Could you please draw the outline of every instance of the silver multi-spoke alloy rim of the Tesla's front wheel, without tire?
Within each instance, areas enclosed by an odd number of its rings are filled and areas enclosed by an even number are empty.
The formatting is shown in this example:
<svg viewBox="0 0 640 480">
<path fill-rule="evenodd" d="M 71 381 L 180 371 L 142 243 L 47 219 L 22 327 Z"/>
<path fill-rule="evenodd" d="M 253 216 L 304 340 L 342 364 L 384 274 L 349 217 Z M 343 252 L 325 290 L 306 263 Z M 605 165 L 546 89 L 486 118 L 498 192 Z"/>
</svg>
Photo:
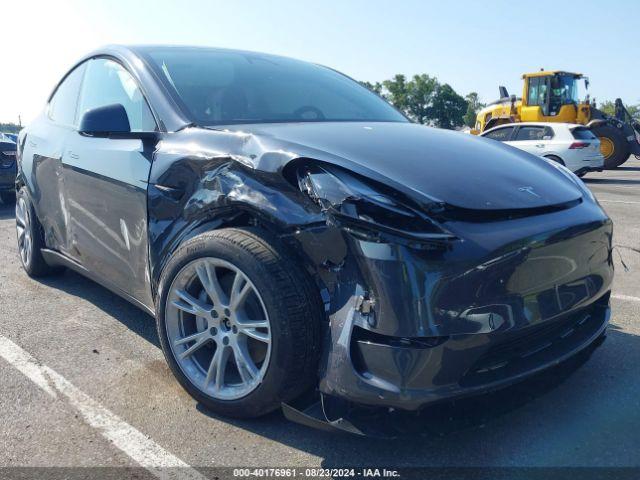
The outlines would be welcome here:
<svg viewBox="0 0 640 480">
<path fill-rule="evenodd" d="M 198 389 L 235 400 L 260 385 L 271 355 L 269 316 L 238 267 L 213 257 L 193 260 L 174 278 L 166 302 L 173 357 Z"/>
</svg>

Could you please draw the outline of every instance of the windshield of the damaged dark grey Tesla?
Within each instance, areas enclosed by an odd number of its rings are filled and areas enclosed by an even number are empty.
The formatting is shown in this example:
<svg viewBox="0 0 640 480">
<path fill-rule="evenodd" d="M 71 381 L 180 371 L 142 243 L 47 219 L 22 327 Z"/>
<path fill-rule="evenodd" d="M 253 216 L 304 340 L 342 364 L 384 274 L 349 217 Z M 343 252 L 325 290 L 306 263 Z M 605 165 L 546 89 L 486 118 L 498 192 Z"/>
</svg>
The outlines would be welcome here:
<svg viewBox="0 0 640 480">
<path fill-rule="evenodd" d="M 145 57 L 199 125 L 408 121 L 358 82 L 298 60 L 195 48 L 151 48 Z"/>
</svg>

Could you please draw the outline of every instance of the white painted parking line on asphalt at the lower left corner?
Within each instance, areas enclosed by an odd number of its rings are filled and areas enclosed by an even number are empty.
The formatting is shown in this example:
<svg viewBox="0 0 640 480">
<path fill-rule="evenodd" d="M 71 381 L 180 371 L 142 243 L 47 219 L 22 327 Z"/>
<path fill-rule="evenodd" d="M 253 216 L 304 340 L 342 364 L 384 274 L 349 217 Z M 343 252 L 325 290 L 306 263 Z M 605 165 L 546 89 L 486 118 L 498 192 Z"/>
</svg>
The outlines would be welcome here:
<svg viewBox="0 0 640 480">
<path fill-rule="evenodd" d="M 29 352 L 0 335 L 0 357 L 22 372 L 52 398 L 65 397 L 84 420 L 135 462 L 162 480 L 205 480 L 206 477 L 169 453 L 62 375 L 40 364 Z"/>
</svg>

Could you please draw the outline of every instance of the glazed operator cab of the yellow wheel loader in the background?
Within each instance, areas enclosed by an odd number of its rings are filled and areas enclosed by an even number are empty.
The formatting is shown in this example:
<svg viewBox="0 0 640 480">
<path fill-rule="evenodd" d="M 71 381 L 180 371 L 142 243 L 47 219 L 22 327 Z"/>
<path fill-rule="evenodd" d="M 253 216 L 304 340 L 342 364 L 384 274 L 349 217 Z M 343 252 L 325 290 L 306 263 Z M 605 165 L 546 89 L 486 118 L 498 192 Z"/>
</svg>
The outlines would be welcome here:
<svg viewBox="0 0 640 480">
<path fill-rule="evenodd" d="M 579 73 L 540 71 L 523 75 L 523 122 L 575 123 L 580 99 Z M 585 79 L 585 85 L 587 84 Z"/>
</svg>

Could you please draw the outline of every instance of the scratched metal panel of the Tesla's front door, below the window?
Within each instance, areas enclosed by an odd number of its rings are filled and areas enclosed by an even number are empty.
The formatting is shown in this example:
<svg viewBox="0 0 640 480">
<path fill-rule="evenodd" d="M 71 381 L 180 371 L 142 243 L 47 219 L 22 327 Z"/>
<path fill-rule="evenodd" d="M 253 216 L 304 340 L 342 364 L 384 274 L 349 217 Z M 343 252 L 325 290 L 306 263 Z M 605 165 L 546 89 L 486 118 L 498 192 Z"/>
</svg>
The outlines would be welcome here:
<svg viewBox="0 0 640 480">
<path fill-rule="evenodd" d="M 152 308 L 148 276 L 147 179 L 140 140 L 75 134 L 63 157 L 69 255 L 111 287 Z"/>
</svg>

